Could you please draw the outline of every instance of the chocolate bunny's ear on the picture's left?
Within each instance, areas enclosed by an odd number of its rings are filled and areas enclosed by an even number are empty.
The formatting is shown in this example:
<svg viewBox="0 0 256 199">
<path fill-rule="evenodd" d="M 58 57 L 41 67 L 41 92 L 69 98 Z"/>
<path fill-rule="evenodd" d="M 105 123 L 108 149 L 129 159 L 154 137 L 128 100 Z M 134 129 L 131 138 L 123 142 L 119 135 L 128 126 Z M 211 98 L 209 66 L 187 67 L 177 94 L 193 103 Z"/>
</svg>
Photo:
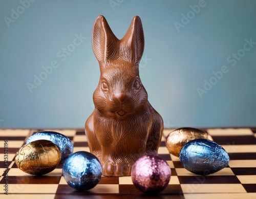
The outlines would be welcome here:
<svg viewBox="0 0 256 199">
<path fill-rule="evenodd" d="M 113 34 L 105 17 L 97 17 L 93 27 L 92 46 L 97 60 L 102 63 L 114 59 L 118 39 Z"/>
</svg>

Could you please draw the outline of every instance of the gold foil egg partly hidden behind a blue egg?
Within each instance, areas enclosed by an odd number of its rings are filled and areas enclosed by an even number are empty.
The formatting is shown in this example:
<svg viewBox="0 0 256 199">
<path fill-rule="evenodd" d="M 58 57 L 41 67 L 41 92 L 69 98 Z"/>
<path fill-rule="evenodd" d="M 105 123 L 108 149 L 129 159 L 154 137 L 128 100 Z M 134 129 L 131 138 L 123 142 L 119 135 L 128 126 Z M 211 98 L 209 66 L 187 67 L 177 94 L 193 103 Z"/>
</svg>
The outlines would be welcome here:
<svg viewBox="0 0 256 199">
<path fill-rule="evenodd" d="M 183 127 L 170 132 L 166 138 L 166 147 L 174 156 L 179 157 L 180 149 L 187 142 L 196 139 L 211 140 L 212 137 L 206 132 L 197 128 Z"/>
</svg>

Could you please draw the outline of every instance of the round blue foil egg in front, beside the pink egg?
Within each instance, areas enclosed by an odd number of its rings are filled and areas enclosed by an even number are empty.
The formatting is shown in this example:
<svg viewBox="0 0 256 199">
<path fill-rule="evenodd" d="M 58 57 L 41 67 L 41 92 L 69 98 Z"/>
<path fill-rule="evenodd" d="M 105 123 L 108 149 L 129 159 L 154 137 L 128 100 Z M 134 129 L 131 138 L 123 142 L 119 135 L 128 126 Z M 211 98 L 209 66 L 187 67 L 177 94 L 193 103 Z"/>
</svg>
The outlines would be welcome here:
<svg viewBox="0 0 256 199">
<path fill-rule="evenodd" d="M 100 181 L 101 174 L 99 160 L 87 151 L 73 153 L 62 168 L 62 175 L 69 186 L 80 191 L 95 187 Z"/>
</svg>

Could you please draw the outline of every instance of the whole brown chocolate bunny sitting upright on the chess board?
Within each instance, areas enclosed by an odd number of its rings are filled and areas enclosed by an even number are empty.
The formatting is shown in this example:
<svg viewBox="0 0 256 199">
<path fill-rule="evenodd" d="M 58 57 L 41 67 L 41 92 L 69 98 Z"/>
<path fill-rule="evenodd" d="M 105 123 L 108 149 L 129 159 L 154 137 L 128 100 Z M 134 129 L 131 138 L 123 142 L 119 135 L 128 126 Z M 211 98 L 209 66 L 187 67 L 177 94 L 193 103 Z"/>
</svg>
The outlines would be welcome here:
<svg viewBox="0 0 256 199">
<path fill-rule="evenodd" d="M 162 117 L 148 102 L 139 77 L 144 50 L 140 18 L 133 18 L 119 40 L 104 16 L 98 16 L 92 46 L 100 79 L 93 94 L 95 109 L 85 126 L 89 148 L 99 159 L 103 175 L 131 175 L 138 158 L 157 155 L 163 132 Z"/>
</svg>

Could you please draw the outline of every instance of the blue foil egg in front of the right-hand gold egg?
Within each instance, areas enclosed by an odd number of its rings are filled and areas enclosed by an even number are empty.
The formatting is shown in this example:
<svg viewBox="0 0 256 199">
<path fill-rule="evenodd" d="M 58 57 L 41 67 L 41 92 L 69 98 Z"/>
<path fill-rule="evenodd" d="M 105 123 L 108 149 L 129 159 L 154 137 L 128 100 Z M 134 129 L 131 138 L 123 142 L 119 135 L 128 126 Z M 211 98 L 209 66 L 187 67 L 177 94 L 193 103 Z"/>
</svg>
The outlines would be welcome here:
<svg viewBox="0 0 256 199">
<path fill-rule="evenodd" d="M 228 166 L 229 156 L 216 142 L 197 139 L 187 142 L 180 150 L 181 164 L 190 172 L 207 175 Z"/>
</svg>

